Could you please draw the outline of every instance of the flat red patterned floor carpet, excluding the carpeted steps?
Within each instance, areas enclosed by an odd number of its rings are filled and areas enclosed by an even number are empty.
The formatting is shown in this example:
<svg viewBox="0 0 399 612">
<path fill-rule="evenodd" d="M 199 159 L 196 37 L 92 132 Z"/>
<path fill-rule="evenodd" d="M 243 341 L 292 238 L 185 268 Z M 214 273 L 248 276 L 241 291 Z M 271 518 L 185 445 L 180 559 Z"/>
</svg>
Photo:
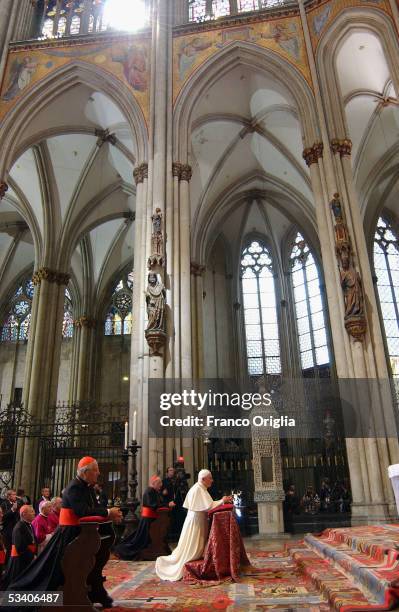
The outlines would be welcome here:
<svg viewBox="0 0 399 612">
<path fill-rule="evenodd" d="M 327 611 L 330 606 L 309 577 L 301 572 L 287 551 L 249 549 L 254 571 L 239 583 L 190 586 L 157 578 L 153 562 L 110 561 L 106 568 L 107 589 L 115 600 L 113 612 L 168 610 L 213 612 L 235 610 Z M 261 569 L 261 572 L 257 571 Z"/>
</svg>

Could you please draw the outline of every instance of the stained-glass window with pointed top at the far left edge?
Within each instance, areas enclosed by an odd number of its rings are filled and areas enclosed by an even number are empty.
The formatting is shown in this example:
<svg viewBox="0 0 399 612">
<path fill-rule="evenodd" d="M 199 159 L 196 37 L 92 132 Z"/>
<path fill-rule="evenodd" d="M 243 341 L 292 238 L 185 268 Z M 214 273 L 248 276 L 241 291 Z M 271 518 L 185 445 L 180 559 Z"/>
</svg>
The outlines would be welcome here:
<svg viewBox="0 0 399 612">
<path fill-rule="evenodd" d="M 1 327 L 2 342 L 27 340 L 31 319 L 34 285 L 31 279 L 25 280 L 11 300 L 10 309 Z"/>
</svg>

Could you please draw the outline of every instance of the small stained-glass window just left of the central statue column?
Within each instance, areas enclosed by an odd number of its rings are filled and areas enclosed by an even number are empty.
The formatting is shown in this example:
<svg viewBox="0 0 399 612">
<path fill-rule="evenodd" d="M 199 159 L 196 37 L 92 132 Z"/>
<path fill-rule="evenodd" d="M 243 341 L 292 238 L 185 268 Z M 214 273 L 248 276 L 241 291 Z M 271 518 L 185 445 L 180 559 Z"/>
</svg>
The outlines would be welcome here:
<svg viewBox="0 0 399 612">
<path fill-rule="evenodd" d="M 124 336 L 132 333 L 133 272 L 126 272 L 114 285 L 111 305 L 105 317 L 106 336 Z"/>
</svg>

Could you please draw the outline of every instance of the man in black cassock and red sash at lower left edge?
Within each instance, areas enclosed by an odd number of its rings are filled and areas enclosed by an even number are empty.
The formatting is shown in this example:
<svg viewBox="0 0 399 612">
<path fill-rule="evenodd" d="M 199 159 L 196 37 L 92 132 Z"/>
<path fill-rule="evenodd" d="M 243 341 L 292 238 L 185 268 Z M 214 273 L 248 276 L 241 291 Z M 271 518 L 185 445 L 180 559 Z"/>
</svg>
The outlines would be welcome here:
<svg viewBox="0 0 399 612">
<path fill-rule="evenodd" d="M 32 528 L 35 511 L 32 506 L 24 505 L 19 515 L 21 518 L 12 532 L 11 557 L 1 584 L 3 590 L 22 574 L 36 555 L 37 543 Z"/>
</svg>

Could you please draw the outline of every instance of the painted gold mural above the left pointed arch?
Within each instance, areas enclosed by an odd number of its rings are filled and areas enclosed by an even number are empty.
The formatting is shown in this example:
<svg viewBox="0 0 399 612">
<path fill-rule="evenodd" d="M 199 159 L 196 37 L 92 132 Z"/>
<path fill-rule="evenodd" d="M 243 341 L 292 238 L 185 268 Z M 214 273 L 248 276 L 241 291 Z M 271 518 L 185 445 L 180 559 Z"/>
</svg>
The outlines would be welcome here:
<svg viewBox="0 0 399 612">
<path fill-rule="evenodd" d="M 150 41 L 137 37 L 126 37 L 122 41 L 103 43 L 58 45 L 47 42 L 29 50 L 12 49 L 0 94 L 0 120 L 38 81 L 52 71 L 72 63 L 87 62 L 111 73 L 127 85 L 136 98 L 145 120 L 149 116 Z"/>
</svg>

